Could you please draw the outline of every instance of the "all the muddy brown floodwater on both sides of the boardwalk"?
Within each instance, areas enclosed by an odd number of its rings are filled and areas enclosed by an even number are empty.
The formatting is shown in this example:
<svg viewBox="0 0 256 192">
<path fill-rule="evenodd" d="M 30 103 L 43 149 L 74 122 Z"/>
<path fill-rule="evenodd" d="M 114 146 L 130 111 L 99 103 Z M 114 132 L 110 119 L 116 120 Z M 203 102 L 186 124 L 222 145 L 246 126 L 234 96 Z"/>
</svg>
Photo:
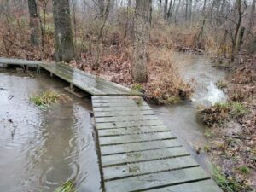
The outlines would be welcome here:
<svg viewBox="0 0 256 192">
<path fill-rule="evenodd" d="M 224 79 L 224 72 L 212 68 L 207 57 L 176 54 L 173 58 L 185 79 L 195 79 L 192 102 L 152 107 L 207 169 L 207 155 L 195 152 L 206 144 L 196 107 L 225 99 L 214 84 Z M 60 79 L 44 73 L 34 76 L 0 68 L 0 191 L 52 192 L 70 179 L 78 192 L 102 191 L 90 99 L 69 95 Z M 72 100 L 49 110 L 29 102 L 36 90 L 50 88 Z"/>
</svg>

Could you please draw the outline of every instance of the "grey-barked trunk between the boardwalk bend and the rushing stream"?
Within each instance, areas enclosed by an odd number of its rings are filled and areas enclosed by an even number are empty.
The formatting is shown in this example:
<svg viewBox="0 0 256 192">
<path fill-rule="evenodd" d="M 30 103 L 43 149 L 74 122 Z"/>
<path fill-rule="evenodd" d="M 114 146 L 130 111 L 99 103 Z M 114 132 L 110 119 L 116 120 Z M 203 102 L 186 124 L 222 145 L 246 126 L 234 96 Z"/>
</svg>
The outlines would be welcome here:
<svg viewBox="0 0 256 192">
<path fill-rule="evenodd" d="M 150 38 L 152 0 L 137 0 L 134 19 L 132 78 L 147 82 L 148 44 Z"/>
</svg>

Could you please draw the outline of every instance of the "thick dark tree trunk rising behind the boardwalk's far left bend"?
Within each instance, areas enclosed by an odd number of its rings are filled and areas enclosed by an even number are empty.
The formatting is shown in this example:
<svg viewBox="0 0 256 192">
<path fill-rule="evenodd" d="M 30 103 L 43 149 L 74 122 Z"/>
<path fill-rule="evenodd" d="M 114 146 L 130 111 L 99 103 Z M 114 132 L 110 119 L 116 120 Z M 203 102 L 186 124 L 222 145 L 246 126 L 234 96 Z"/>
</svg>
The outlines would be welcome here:
<svg viewBox="0 0 256 192">
<path fill-rule="evenodd" d="M 55 20 L 55 60 L 73 59 L 73 35 L 68 0 L 53 0 Z"/>
</svg>

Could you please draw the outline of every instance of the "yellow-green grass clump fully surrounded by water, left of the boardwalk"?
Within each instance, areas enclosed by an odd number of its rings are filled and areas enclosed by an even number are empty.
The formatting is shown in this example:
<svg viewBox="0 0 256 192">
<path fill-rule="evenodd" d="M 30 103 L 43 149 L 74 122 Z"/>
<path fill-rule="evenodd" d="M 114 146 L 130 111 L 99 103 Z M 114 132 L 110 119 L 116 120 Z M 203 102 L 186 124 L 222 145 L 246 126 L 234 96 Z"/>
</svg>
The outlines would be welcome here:
<svg viewBox="0 0 256 192">
<path fill-rule="evenodd" d="M 57 93 L 55 90 L 40 91 L 30 96 L 30 101 L 39 108 L 49 108 L 49 106 L 59 101 L 66 102 L 67 99 L 69 99 L 68 96 Z"/>
</svg>

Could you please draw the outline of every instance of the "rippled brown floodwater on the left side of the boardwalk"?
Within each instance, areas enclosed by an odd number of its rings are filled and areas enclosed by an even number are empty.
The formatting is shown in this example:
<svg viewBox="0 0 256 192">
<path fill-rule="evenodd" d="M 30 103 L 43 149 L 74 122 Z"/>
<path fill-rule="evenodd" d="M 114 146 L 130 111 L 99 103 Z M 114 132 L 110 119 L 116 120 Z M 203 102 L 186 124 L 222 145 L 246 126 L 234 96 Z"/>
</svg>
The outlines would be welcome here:
<svg viewBox="0 0 256 192">
<path fill-rule="evenodd" d="M 41 110 L 29 96 L 64 92 L 67 84 L 0 70 L 0 191 L 52 192 L 67 180 L 78 191 L 101 191 L 90 100 L 69 95 L 72 101 Z"/>
</svg>

